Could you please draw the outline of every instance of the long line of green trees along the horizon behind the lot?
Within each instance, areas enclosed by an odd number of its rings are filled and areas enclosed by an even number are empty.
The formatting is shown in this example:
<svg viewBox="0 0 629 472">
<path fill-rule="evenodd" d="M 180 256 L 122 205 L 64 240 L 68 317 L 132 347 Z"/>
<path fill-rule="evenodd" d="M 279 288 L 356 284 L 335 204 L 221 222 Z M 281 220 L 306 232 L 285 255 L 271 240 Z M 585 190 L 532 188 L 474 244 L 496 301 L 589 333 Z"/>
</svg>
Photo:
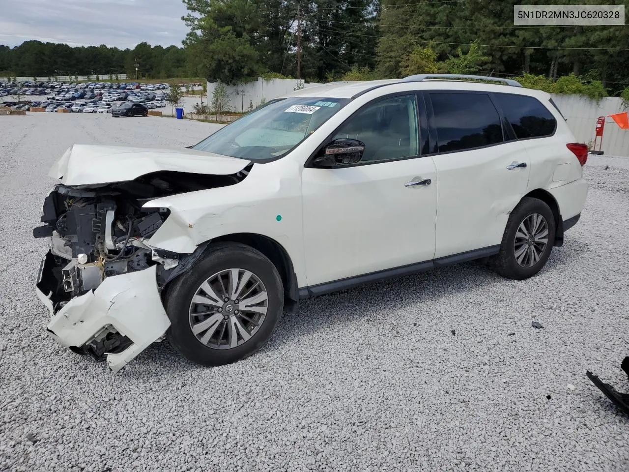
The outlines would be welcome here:
<svg viewBox="0 0 629 472">
<path fill-rule="evenodd" d="M 137 59 L 150 77 L 179 74 L 227 84 L 259 76 L 323 82 L 450 72 L 521 77 L 528 86 L 586 89 L 593 97 L 628 93 L 629 26 L 514 26 L 519 0 L 182 1 L 190 28 L 182 48 L 30 41 L 0 47 L 0 70 L 133 74 Z M 629 0 L 623 3 L 629 18 Z"/>
</svg>

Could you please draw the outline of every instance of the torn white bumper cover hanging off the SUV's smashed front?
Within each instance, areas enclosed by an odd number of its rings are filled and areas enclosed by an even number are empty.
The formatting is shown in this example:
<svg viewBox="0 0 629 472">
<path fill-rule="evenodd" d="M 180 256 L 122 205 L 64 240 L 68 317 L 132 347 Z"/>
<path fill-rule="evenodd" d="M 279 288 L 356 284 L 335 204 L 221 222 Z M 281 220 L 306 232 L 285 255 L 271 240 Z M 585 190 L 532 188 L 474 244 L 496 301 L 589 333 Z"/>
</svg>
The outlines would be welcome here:
<svg viewBox="0 0 629 472">
<path fill-rule="evenodd" d="M 50 257 L 42 261 L 40 274 Z M 105 327 L 113 327 L 133 344 L 119 354 L 108 354 L 109 367 L 117 372 L 150 344 L 164 337 L 170 320 L 157 291 L 157 266 L 104 279 L 96 289 L 72 298 L 57 313 L 47 293 L 37 295 L 50 311 L 48 334 L 66 347 L 91 342 Z M 38 281 L 39 282 L 39 281 Z"/>
</svg>

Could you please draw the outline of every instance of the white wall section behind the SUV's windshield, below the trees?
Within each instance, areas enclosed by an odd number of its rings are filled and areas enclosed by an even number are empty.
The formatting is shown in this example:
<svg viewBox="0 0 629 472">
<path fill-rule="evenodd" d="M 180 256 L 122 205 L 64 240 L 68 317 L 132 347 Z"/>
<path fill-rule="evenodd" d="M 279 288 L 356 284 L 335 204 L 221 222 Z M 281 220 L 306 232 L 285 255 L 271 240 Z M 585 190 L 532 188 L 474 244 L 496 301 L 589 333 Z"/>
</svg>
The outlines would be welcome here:
<svg viewBox="0 0 629 472">
<path fill-rule="evenodd" d="M 294 91 L 298 82 L 303 81 L 295 79 L 270 79 L 265 81 L 262 77 L 259 77 L 257 81 L 241 85 L 228 85 L 227 93 L 231 99 L 231 111 L 247 111 L 249 104 L 252 104 L 253 108 L 255 108 L 262 102 L 262 99 L 269 101 L 270 99 L 289 94 Z M 212 102 L 212 93 L 217 85 L 218 82 L 208 82 L 208 103 Z M 304 83 L 305 87 L 314 87 L 316 85 L 321 84 Z"/>
</svg>

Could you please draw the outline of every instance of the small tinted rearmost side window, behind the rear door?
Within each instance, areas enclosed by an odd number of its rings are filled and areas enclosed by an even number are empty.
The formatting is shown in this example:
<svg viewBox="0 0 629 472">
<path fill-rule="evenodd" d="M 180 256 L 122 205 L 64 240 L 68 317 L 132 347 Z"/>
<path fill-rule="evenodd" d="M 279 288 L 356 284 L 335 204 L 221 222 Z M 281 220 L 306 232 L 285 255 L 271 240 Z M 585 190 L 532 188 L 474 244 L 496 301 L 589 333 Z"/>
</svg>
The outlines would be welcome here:
<svg viewBox="0 0 629 472">
<path fill-rule="evenodd" d="M 557 120 L 537 98 L 497 93 L 494 95 L 518 139 L 552 135 Z"/>
</svg>

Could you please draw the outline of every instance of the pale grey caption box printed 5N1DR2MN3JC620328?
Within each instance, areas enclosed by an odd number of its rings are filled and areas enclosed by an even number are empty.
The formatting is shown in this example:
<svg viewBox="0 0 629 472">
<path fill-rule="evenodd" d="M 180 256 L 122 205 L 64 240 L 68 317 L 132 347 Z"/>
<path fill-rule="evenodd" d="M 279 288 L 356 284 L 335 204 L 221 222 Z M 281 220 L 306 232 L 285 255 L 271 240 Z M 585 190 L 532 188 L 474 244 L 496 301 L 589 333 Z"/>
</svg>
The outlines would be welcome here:
<svg viewBox="0 0 629 472">
<path fill-rule="evenodd" d="M 514 5 L 515 26 L 615 26 L 625 24 L 624 5 Z"/>
</svg>

